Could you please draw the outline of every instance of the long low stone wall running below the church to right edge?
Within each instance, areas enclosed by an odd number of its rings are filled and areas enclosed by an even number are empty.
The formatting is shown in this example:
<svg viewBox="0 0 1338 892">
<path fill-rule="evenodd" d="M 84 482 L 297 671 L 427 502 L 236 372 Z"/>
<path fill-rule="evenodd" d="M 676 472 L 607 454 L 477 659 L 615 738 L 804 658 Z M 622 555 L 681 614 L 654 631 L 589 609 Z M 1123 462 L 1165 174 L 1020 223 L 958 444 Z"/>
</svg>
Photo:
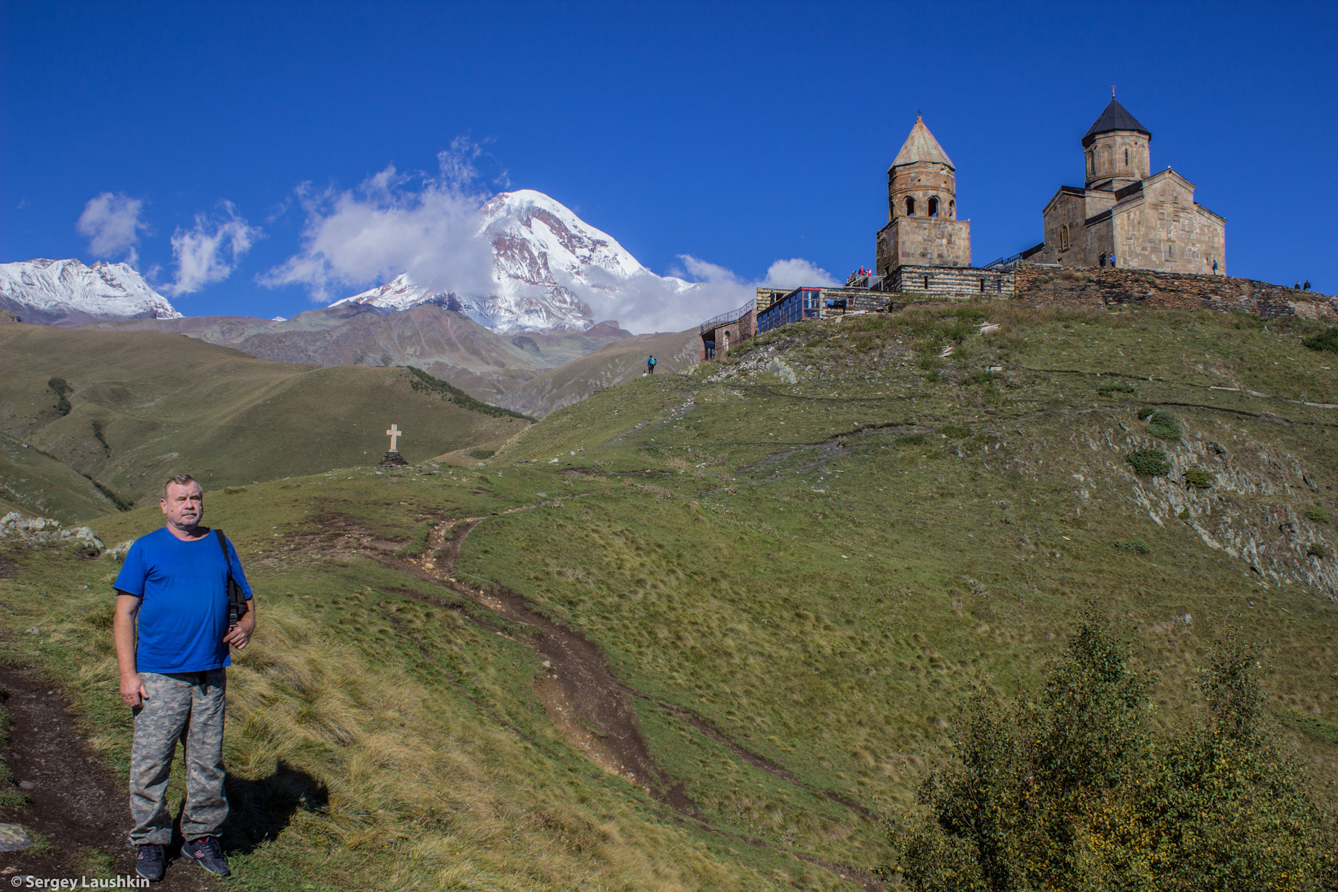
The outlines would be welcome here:
<svg viewBox="0 0 1338 892">
<path fill-rule="evenodd" d="M 1239 310 L 1263 318 L 1299 316 L 1338 321 L 1338 298 L 1230 275 L 1018 263 L 1013 277 L 1013 296 L 1042 306 L 1131 304 L 1159 309 Z"/>
</svg>

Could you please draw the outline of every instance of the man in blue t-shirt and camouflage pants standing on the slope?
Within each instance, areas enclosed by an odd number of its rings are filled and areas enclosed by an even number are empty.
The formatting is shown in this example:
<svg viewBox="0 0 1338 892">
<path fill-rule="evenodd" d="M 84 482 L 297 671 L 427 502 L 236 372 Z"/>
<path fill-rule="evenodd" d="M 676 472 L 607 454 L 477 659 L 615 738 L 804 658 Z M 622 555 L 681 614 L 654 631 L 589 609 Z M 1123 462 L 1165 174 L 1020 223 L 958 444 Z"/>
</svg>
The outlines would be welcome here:
<svg viewBox="0 0 1338 892">
<path fill-rule="evenodd" d="M 159 507 L 167 524 L 130 547 L 114 583 L 112 621 L 120 699 L 135 715 L 130 754 L 130 813 L 135 828 L 130 841 L 138 847 L 135 871 L 155 883 L 163 877 L 165 847 L 171 843 L 166 794 L 178 740 L 186 750 L 182 855 L 210 873 L 229 873 L 218 845 L 218 829 L 227 817 L 227 646 L 241 650 L 256 630 L 256 600 L 237 551 L 221 535 L 199 526 L 205 516 L 199 484 L 189 473 L 177 475 L 163 484 Z M 229 578 L 246 595 L 249 607 L 231 629 Z"/>
</svg>

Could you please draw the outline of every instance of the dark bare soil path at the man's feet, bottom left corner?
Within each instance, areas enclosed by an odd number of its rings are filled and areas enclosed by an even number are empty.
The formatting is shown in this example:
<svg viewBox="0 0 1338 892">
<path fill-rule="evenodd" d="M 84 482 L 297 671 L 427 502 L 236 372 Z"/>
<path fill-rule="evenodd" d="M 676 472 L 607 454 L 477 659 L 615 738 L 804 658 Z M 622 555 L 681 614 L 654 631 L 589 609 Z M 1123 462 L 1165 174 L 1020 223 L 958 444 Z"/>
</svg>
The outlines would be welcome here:
<svg viewBox="0 0 1338 892">
<path fill-rule="evenodd" d="M 0 887 L 16 876 L 78 879 L 134 876 L 135 856 L 126 841 L 130 797 L 126 784 L 94 754 L 59 689 L 35 670 L 0 665 L 0 690 L 9 713 L 9 745 L 0 758 L 28 797 L 17 809 L 0 809 L 0 822 L 21 824 L 48 847 L 0 853 Z M 155 889 L 210 888 L 198 865 L 175 861 Z"/>
</svg>

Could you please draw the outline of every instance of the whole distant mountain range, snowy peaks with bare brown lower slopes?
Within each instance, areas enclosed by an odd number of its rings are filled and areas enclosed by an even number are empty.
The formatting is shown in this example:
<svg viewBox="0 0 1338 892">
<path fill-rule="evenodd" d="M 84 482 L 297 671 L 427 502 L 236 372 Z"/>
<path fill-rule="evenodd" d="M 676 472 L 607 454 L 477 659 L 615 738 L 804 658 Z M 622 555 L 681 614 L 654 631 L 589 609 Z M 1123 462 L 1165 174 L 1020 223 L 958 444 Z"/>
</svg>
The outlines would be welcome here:
<svg viewBox="0 0 1338 892">
<path fill-rule="evenodd" d="M 35 259 L 0 265 L 0 309 L 40 325 L 186 334 L 285 362 L 415 365 L 480 400 L 538 415 L 640 374 L 648 353 L 661 372 L 696 360 L 696 332 L 634 337 L 594 318 L 591 302 L 697 286 L 656 275 L 559 202 L 533 190 L 496 195 L 480 209 L 479 238 L 492 253 L 491 294 L 436 290 L 401 274 L 288 320 L 183 317 L 124 263 Z"/>
</svg>

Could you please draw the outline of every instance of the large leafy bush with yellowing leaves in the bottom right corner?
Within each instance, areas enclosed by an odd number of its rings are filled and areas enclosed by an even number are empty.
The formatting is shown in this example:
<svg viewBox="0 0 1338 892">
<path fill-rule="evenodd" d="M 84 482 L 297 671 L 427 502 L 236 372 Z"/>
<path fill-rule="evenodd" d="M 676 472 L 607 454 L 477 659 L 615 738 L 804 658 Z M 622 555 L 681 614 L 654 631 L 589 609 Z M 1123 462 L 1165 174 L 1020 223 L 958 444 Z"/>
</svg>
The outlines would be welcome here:
<svg viewBox="0 0 1338 892">
<path fill-rule="evenodd" d="M 1204 719 L 1169 738 L 1148 683 L 1089 615 L 1040 691 L 974 699 L 927 814 L 884 822 L 880 872 L 945 892 L 1330 888 L 1338 840 L 1264 725 L 1255 654 L 1228 638 Z"/>
</svg>

